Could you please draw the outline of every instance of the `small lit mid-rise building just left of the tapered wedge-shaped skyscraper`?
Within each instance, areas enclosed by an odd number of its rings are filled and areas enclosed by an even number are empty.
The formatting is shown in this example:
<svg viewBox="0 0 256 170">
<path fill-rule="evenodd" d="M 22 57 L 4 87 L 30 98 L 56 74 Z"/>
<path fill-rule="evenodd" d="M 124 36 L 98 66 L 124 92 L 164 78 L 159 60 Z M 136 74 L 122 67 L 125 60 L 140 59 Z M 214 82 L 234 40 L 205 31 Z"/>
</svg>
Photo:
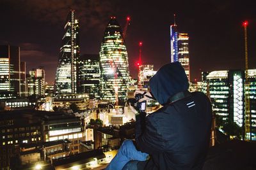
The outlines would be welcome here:
<svg viewBox="0 0 256 170">
<path fill-rule="evenodd" d="M 44 68 L 32 69 L 28 77 L 28 96 L 44 96 L 45 94 L 45 71 Z"/>
</svg>

